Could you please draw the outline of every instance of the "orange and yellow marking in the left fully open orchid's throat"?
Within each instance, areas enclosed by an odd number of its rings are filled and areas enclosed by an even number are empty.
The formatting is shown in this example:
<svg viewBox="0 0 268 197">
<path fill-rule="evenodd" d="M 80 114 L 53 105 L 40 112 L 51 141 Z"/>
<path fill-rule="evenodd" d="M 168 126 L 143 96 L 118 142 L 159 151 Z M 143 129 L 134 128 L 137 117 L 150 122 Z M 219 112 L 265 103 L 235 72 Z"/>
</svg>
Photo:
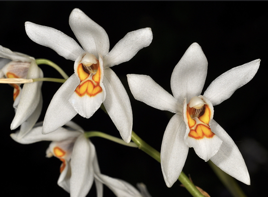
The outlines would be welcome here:
<svg viewBox="0 0 268 197">
<path fill-rule="evenodd" d="M 80 97 L 84 95 L 95 96 L 98 93 L 102 92 L 103 89 L 100 86 L 101 81 L 101 68 L 99 63 L 92 65 L 93 70 L 97 70 L 95 74 L 93 74 L 92 79 L 88 78 L 92 73 L 87 73 L 83 69 L 83 65 L 79 64 L 77 67 L 77 73 L 80 79 L 80 84 L 74 90 Z"/>
</svg>

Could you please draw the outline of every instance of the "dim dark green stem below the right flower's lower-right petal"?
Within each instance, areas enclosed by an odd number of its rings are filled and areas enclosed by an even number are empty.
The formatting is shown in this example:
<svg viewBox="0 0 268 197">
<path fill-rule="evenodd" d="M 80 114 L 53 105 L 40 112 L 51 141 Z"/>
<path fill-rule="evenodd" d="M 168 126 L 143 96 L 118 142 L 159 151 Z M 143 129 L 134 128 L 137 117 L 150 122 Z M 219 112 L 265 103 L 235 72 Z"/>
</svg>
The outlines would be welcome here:
<svg viewBox="0 0 268 197">
<path fill-rule="evenodd" d="M 243 190 L 239 187 L 237 182 L 233 177 L 231 177 L 229 174 L 222 171 L 218 166 L 216 166 L 211 160 L 208 161 L 208 164 L 213 169 L 215 174 L 219 177 L 219 179 L 222 181 L 224 186 L 230 191 L 230 193 L 234 197 L 246 197 Z"/>
</svg>

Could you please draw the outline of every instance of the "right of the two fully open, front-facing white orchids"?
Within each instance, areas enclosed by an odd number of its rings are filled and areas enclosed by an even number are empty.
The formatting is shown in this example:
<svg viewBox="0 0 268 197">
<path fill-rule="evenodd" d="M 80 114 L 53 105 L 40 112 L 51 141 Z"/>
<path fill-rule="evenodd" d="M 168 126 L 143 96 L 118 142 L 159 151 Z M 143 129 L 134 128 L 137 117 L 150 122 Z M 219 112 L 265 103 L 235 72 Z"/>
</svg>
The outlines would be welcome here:
<svg viewBox="0 0 268 197">
<path fill-rule="evenodd" d="M 208 62 L 201 47 L 193 43 L 171 75 L 173 96 L 147 75 L 129 74 L 128 83 L 135 99 L 175 115 L 169 121 L 161 145 L 161 168 L 168 187 L 180 176 L 189 147 L 197 155 L 215 163 L 245 184 L 250 178 L 244 159 L 231 137 L 213 120 L 213 106 L 228 99 L 250 81 L 260 60 L 230 69 L 216 78 L 200 95 Z"/>
</svg>

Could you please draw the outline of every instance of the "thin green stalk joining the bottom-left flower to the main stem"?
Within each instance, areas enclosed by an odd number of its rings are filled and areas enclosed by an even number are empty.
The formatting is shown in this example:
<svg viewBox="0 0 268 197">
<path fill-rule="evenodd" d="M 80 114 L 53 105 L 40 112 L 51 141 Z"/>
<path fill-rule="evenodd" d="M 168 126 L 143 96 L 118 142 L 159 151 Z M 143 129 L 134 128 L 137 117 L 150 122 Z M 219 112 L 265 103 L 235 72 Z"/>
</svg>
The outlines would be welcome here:
<svg viewBox="0 0 268 197">
<path fill-rule="evenodd" d="M 86 138 L 91 138 L 91 137 L 101 137 L 101 138 L 105 138 L 107 140 L 111 140 L 113 142 L 116 142 L 118 144 L 122 144 L 122 145 L 125 145 L 125 146 L 130 146 L 130 147 L 135 147 L 137 148 L 138 146 L 133 143 L 133 142 L 130 142 L 130 143 L 126 143 L 124 140 L 122 139 L 119 139 L 119 138 L 116 138 L 114 136 L 111 136 L 111 135 L 108 135 L 106 133 L 103 133 L 103 132 L 100 132 L 100 131 L 88 131 L 88 132 L 85 132 L 84 133 L 84 136 Z"/>
</svg>

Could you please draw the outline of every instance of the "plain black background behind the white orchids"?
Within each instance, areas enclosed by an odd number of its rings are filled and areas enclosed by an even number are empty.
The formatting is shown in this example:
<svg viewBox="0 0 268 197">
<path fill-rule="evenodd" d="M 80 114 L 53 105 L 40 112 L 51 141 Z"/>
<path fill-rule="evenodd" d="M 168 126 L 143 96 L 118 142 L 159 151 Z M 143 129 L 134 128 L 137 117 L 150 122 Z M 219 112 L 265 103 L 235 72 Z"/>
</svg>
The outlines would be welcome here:
<svg viewBox="0 0 268 197">
<path fill-rule="evenodd" d="M 169 81 L 174 66 L 187 48 L 197 42 L 209 63 L 205 90 L 223 72 L 260 58 L 255 77 L 230 99 L 214 107 L 214 119 L 236 142 L 247 164 L 251 185 L 238 182 L 239 185 L 248 196 L 261 196 L 266 191 L 268 175 L 266 5 L 264 2 L 0 2 L 0 45 L 35 58 L 50 59 L 71 75 L 73 62 L 31 41 L 24 29 L 26 21 L 53 27 L 75 39 L 68 17 L 74 8 L 79 8 L 106 30 L 110 49 L 128 32 L 150 27 L 153 32 L 151 45 L 129 62 L 112 69 L 129 93 L 133 130 L 158 151 L 172 114 L 134 100 L 126 74 L 150 75 L 171 93 Z M 60 77 L 51 67 L 40 67 L 45 77 Z M 44 105 L 40 121 L 60 85 L 43 83 Z M 10 138 L 14 117 L 13 88 L 7 84 L 0 84 L 0 88 L 3 196 L 69 196 L 57 185 L 61 162 L 54 157 L 45 157 L 49 142 L 22 145 Z M 73 120 L 86 131 L 98 130 L 120 137 L 102 110 L 90 119 L 77 115 Z M 180 187 L 179 181 L 167 188 L 160 164 L 142 151 L 101 138 L 91 140 L 96 146 L 102 173 L 133 185 L 143 182 L 152 196 L 190 196 Z M 189 151 L 184 172 L 191 174 L 194 183 L 211 196 L 231 196 L 193 149 Z M 95 196 L 95 186 L 88 196 Z M 104 196 L 113 196 L 113 193 L 105 187 Z"/>
</svg>

